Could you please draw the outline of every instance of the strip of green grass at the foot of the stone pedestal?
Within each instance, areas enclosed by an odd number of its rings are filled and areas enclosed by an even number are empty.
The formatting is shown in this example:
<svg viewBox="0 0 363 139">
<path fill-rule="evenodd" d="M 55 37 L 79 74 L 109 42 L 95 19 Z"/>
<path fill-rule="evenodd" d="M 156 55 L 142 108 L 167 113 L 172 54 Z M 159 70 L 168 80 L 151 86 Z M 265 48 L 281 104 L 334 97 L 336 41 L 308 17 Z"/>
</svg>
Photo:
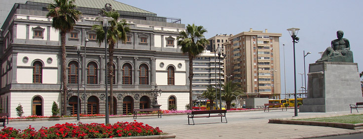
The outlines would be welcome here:
<svg viewBox="0 0 363 139">
<path fill-rule="evenodd" d="M 363 123 L 363 114 L 352 114 L 352 115 L 324 117 L 324 118 L 294 119 L 294 120 L 357 124 L 357 123 Z"/>
</svg>

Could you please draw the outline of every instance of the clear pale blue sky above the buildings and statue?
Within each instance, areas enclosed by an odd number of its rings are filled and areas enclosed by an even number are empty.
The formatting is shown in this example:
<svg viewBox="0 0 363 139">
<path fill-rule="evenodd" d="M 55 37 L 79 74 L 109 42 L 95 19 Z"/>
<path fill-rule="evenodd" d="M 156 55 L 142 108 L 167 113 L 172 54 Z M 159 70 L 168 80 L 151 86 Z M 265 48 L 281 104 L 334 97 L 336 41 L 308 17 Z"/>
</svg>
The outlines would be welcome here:
<svg viewBox="0 0 363 139">
<path fill-rule="evenodd" d="M 354 62 L 363 71 L 363 50 L 360 35 L 363 31 L 363 0 L 116 0 L 156 13 L 157 16 L 181 18 L 182 24 L 195 24 L 208 30 L 207 39 L 216 34 L 238 34 L 243 31 L 268 29 L 282 33 L 280 37 L 281 94 L 294 93 L 293 47 L 287 28 L 300 28 L 295 44 L 296 86 L 300 89 L 301 75 L 309 63 L 315 63 L 336 39 L 336 31 L 344 31 L 349 39 Z M 285 49 L 283 47 L 285 44 Z M 357 75 L 358 76 L 358 75 Z M 307 76 L 306 76 L 307 78 Z M 307 79 L 306 79 L 307 80 Z M 304 86 L 304 84 L 303 84 Z M 284 97 L 282 95 L 282 97 Z"/>
</svg>

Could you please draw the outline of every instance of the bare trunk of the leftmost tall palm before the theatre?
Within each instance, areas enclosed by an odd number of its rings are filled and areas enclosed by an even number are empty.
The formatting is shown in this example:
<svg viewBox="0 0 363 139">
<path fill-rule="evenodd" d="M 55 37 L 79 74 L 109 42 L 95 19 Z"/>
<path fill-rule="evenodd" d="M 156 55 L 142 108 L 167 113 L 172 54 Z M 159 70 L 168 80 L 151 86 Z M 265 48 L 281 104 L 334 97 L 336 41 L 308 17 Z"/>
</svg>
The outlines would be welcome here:
<svg viewBox="0 0 363 139">
<path fill-rule="evenodd" d="M 66 32 L 61 31 L 61 49 L 62 49 L 62 85 L 63 85 L 63 112 L 67 115 L 67 61 L 66 61 Z"/>
</svg>

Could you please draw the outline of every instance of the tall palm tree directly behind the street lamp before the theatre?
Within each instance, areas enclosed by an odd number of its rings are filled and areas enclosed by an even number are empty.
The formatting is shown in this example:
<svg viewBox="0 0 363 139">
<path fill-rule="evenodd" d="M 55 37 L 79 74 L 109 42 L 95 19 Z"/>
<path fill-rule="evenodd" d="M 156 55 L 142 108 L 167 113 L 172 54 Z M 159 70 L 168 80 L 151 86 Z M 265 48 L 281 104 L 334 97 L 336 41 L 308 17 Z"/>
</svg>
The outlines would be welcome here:
<svg viewBox="0 0 363 139">
<path fill-rule="evenodd" d="M 118 21 L 118 18 L 120 17 L 119 13 L 117 11 L 111 10 L 111 11 L 101 11 L 104 16 L 113 18 L 112 21 L 109 21 L 109 28 L 107 31 L 107 41 L 109 44 L 109 78 L 110 78 L 110 87 L 109 87 L 109 93 L 110 93 L 110 100 L 109 100 L 109 114 L 113 115 L 113 49 L 115 44 L 118 42 L 118 40 L 121 40 L 122 43 L 125 43 L 127 41 L 127 32 L 130 32 L 129 24 L 126 23 L 125 19 L 122 19 L 121 21 Z M 105 40 L 105 31 L 103 29 L 102 24 L 101 25 L 93 25 L 92 29 L 96 31 L 97 42 L 101 45 L 101 43 Z M 107 84 L 106 84 L 107 85 Z M 108 96 L 108 95 L 106 95 Z"/>
</svg>

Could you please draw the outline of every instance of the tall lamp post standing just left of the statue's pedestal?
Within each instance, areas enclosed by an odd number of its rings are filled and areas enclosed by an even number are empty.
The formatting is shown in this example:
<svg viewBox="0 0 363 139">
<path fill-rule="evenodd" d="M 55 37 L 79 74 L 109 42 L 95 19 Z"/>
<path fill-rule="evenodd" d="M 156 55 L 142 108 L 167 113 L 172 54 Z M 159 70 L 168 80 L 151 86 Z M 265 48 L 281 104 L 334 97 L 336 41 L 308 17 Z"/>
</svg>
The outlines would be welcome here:
<svg viewBox="0 0 363 139">
<path fill-rule="evenodd" d="M 293 44 L 293 77 L 294 77 L 294 98 L 295 98 L 295 107 L 294 107 L 294 116 L 297 116 L 297 97 L 296 97 L 296 64 L 295 64 L 295 43 L 299 42 L 299 37 L 296 37 L 300 28 L 289 28 L 287 29 L 292 38 Z"/>
</svg>

